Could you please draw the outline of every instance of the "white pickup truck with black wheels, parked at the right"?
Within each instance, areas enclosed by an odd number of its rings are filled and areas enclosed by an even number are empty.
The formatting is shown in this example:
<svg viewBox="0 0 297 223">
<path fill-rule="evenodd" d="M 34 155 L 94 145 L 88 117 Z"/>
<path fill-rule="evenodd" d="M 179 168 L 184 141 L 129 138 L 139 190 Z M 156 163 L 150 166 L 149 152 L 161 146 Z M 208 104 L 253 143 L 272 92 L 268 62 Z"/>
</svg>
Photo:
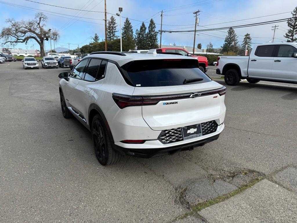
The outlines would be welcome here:
<svg viewBox="0 0 297 223">
<path fill-rule="evenodd" d="M 225 75 L 228 85 L 240 79 L 297 84 L 297 43 L 256 45 L 250 56 L 219 56 L 217 65 L 216 73 Z"/>
</svg>

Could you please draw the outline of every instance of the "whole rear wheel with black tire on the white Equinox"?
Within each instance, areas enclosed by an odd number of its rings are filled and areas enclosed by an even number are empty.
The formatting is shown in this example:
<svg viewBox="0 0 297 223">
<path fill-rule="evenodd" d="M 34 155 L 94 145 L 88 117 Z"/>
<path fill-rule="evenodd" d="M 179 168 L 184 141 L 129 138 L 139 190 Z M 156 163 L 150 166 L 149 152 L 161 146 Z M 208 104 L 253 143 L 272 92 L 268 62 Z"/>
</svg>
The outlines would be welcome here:
<svg viewBox="0 0 297 223">
<path fill-rule="evenodd" d="M 105 123 L 98 114 L 93 118 L 91 133 L 95 154 L 101 165 L 108 166 L 121 160 L 122 154 L 113 150 Z"/>
</svg>

